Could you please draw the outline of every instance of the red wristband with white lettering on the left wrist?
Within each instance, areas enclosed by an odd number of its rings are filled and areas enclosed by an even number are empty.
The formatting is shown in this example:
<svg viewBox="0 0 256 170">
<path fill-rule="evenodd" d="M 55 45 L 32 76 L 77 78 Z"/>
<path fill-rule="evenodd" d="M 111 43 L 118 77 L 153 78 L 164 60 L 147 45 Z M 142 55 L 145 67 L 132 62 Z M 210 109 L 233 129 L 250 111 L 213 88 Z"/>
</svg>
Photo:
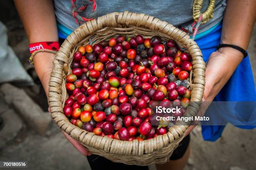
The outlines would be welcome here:
<svg viewBox="0 0 256 170">
<path fill-rule="evenodd" d="M 30 53 L 32 54 L 36 50 L 48 49 L 48 50 L 59 50 L 59 42 L 35 42 L 29 45 Z"/>
</svg>

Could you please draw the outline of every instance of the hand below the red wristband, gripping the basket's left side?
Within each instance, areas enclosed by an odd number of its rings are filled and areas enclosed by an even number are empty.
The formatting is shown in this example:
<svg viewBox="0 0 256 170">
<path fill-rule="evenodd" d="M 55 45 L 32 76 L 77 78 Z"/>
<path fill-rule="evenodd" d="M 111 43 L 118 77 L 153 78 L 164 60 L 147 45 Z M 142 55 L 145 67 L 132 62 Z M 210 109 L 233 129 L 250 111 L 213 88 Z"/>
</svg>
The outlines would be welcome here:
<svg viewBox="0 0 256 170">
<path fill-rule="evenodd" d="M 40 62 L 38 62 L 36 60 L 40 60 Z M 41 80 L 41 83 L 44 87 L 44 91 L 47 96 L 47 99 L 48 99 L 51 70 L 53 67 L 53 64 L 52 64 L 53 60 L 54 60 L 54 54 L 49 53 L 49 52 L 39 52 L 34 57 L 35 69 L 36 69 L 38 77 Z M 50 107 L 49 107 L 48 111 L 51 112 Z M 84 148 L 84 146 L 81 143 L 79 143 L 77 140 L 74 140 L 71 136 L 69 136 L 63 130 L 62 130 L 62 133 L 67 138 L 67 140 L 74 146 L 74 148 L 76 148 L 80 153 L 82 153 L 82 155 L 84 155 L 84 156 L 92 155 L 92 153 L 90 153 L 90 151 L 86 150 Z"/>
</svg>

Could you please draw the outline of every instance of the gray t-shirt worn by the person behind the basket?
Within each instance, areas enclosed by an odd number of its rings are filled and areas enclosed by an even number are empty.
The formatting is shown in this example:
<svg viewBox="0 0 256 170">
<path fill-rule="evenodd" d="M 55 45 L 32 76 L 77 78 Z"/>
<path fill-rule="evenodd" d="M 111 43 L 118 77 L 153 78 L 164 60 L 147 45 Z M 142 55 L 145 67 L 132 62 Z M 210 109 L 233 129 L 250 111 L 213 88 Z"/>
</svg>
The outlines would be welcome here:
<svg viewBox="0 0 256 170">
<path fill-rule="evenodd" d="M 123 12 L 128 10 L 134 13 L 145 13 L 152 15 L 160 20 L 166 21 L 174 26 L 188 26 L 194 20 L 192 17 L 192 6 L 194 0 L 96 0 L 97 16 L 107 13 Z M 77 0 L 79 5 L 81 0 Z M 204 0 L 202 12 L 209 5 L 209 0 Z M 70 0 L 54 0 L 56 19 L 59 23 L 70 30 L 78 27 L 71 13 Z M 226 0 L 216 0 L 213 18 L 205 24 L 201 24 L 198 33 L 204 32 L 223 19 L 226 8 Z M 92 5 L 84 11 L 83 16 L 87 17 L 92 13 Z"/>
</svg>

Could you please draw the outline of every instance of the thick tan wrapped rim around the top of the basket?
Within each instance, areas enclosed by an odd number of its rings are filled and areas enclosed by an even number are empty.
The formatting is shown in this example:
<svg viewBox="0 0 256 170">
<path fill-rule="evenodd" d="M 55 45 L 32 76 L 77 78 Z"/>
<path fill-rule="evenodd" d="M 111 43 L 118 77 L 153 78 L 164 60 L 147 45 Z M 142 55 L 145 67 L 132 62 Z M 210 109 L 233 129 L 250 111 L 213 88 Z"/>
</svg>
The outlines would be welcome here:
<svg viewBox="0 0 256 170">
<path fill-rule="evenodd" d="M 127 16 L 130 16 L 130 18 L 126 18 Z M 131 20 L 136 20 L 136 22 L 131 23 Z M 150 20 L 151 22 L 148 20 Z M 117 27 L 118 24 L 126 25 L 126 26 L 133 25 L 137 27 L 145 27 L 149 30 L 161 32 L 163 34 L 168 35 L 171 39 L 180 42 L 182 45 L 184 45 L 187 48 L 188 52 L 192 56 L 193 70 L 197 69 L 197 72 L 203 72 L 203 73 L 205 72 L 205 62 L 202 59 L 202 53 L 197 43 L 192 39 L 190 39 L 190 37 L 184 31 L 179 30 L 173 25 L 167 22 L 161 21 L 152 16 L 145 15 L 145 14 L 130 13 L 128 11 L 125 11 L 124 13 L 115 12 L 115 13 L 109 13 L 107 15 L 103 15 L 97 19 L 91 20 L 87 23 L 84 23 L 83 25 L 80 25 L 76 30 L 74 30 L 74 32 L 72 32 L 67 37 L 67 39 L 61 45 L 59 51 L 57 52 L 54 58 L 54 67 L 51 72 L 51 77 L 49 82 L 49 106 L 51 108 L 51 116 L 54 119 L 54 122 L 59 126 L 59 128 L 64 130 L 66 133 L 71 135 L 72 138 L 74 138 L 75 140 L 78 140 L 83 145 L 88 145 L 93 147 L 92 145 L 90 145 L 90 142 L 84 143 L 83 141 L 84 141 L 84 137 L 92 136 L 88 134 L 93 134 L 93 135 L 95 134 L 91 132 L 87 132 L 86 130 L 82 130 L 75 125 L 72 125 L 72 123 L 70 123 L 67 120 L 67 117 L 63 114 L 63 107 L 61 103 L 61 85 L 63 85 L 64 83 L 62 80 L 65 75 L 64 74 L 65 69 L 67 69 L 65 68 L 65 63 L 68 64 L 67 58 L 69 57 L 70 51 L 72 51 L 72 49 L 74 49 L 74 47 L 76 46 L 77 42 L 81 41 L 84 37 L 87 37 L 88 35 L 94 34 L 95 31 L 97 30 L 100 30 L 105 27 L 115 28 Z M 178 35 L 182 35 L 182 36 L 178 36 Z M 196 88 L 196 90 L 194 88 L 191 89 L 192 91 L 191 102 L 202 101 L 202 95 L 198 96 L 197 90 L 201 89 L 201 93 L 203 93 L 205 79 L 203 79 L 202 76 L 198 78 L 197 77 L 198 75 L 194 77 L 195 80 L 198 80 L 197 82 L 195 82 L 195 84 L 199 88 Z M 196 107 L 191 106 L 189 104 L 189 107 L 187 108 L 186 112 L 188 113 L 189 116 L 192 116 L 189 114 L 190 107 L 194 107 L 194 109 Z M 177 122 L 172 128 L 170 128 L 168 133 L 165 134 L 168 137 L 166 138 L 167 140 L 169 140 L 168 143 L 170 144 L 174 142 L 174 140 L 177 140 L 181 136 L 183 136 L 188 127 L 189 125 L 186 125 L 186 123 L 184 124 L 184 122 Z M 81 137 L 82 134 L 84 135 L 83 137 Z M 169 135 L 171 135 L 172 139 L 170 138 Z M 159 136 L 158 138 L 161 138 L 161 140 L 164 140 L 162 138 L 162 136 L 164 135 L 158 135 L 158 136 Z M 105 138 L 105 140 L 108 140 L 110 143 L 116 140 L 116 139 L 102 137 L 102 136 L 98 136 L 98 138 L 101 140 Z M 149 139 L 149 140 L 153 140 L 153 139 Z M 116 141 L 120 141 L 120 140 L 116 140 Z M 143 146 L 144 146 L 146 141 L 147 140 L 144 140 L 138 143 L 143 143 Z M 133 141 L 122 141 L 122 142 L 130 143 L 130 144 L 134 143 Z M 139 147 L 137 148 L 139 150 Z M 164 148 L 164 146 L 161 148 Z M 154 150 L 153 152 L 158 150 Z M 124 155 L 124 154 L 121 154 L 121 155 Z"/>
</svg>

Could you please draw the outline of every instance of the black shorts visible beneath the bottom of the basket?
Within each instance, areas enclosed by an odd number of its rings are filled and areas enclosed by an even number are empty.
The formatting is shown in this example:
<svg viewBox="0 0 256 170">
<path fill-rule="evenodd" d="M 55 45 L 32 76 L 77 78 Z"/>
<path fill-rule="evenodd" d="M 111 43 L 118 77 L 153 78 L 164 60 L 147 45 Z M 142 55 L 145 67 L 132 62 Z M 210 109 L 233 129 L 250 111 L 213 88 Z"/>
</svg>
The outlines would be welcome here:
<svg viewBox="0 0 256 170">
<path fill-rule="evenodd" d="M 183 157 L 184 153 L 187 151 L 190 141 L 190 136 L 187 135 L 180 143 L 179 146 L 173 151 L 170 160 L 178 160 Z M 87 156 L 89 164 L 92 170 L 102 170 L 105 168 L 111 168 L 112 170 L 148 170 L 147 166 L 137 166 L 137 165 L 126 165 L 123 163 L 113 163 L 104 157 L 98 155 Z"/>
</svg>

